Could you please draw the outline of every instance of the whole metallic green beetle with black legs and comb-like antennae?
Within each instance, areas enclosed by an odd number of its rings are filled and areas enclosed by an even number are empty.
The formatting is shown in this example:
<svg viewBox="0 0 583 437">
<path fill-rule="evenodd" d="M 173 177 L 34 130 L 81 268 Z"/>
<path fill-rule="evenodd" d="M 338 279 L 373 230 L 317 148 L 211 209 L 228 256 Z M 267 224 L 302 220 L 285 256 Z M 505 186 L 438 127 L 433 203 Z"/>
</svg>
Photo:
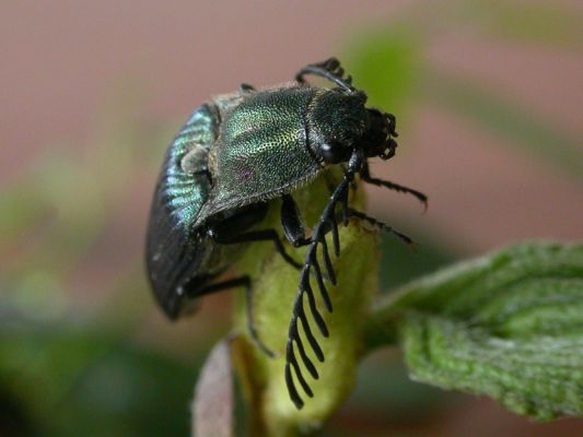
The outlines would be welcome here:
<svg viewBox="0 0 583 437">
<path fill-rule="evenodd" d="M 335 86 L 310 85 L 313 74 Z M 366 95 L 352 86 L 338 60 L 310 64 L 296 74 L 295 82 L 257 91 L 243 84 L 238 92 L 221 95 L 200 106 L 171 143 L 150 213 L 147 236 L 147 270 L 154 296 L 164 312 L 175 319 L 188 312 L 197 297 L 225 288 L 243 286 L 248 297 L 247 316 L 252 339 L 266 353 L 252 318 L 252 286 L 248 276 L 221 280 L 237 260 L 245 243 L 269 240 L 299 272 L 299 292 L 293 304 L 285 349 L 285 381 L 291 400 L 303 405 L 295 381 L 313 395 L 302 376 L 296 352 L 307 371 L 317 378 L 313 363 L 304 353 L 299 334 L 299 318 L 307 323 L 304 294 L 310 315 L 324 336 L 326 323 L 315 305 L 311 280 L 317 283 L 326 309 L 333 303 L 325 282 L 336 275 L 325 236 L 331 233 L 333 248 L 340 255 L 339 222 L 363 220 L 410 239 L 362 212 L 348 206 L 350 182 L 361 180 L 417 197 L 410 188 L 376 179 L 369 173 L 368 160 L 388 160 L 395 154 L 395 117 L 366 108 Z M 294 189 L 310 184 L 328 166 L 342 166 L 343 178 L 311 236 L 306 236 L 294 200 Z M 269 202 L 281 199 L 282 234 L 293 247 L 308 246 L 305 263 L 298 264 L 287 252 L 276 229 L 261 228 Z M 340 209 L 337 211 L 336 205 Z M 316 252 L 322 248 L 324 270 Z M 305 323 L 304 323 L 305 321 Z M 324 354 L 304 327 L 314 354 Z"/>
</svg>

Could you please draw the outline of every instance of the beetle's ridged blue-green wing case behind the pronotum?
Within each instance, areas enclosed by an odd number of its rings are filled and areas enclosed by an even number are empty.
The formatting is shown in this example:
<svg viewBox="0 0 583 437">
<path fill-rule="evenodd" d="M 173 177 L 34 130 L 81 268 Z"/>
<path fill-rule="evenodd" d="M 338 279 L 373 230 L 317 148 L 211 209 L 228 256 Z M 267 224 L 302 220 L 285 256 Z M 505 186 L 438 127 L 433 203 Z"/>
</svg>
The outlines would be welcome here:
<svg viewBox="0 0 583 437">
<path fill-rule="evenodd" d="M 195 222 L 211 188 L 208 158 L 218 129 L 213 105 L 195 110 L 166 152 L 154 192 L 145 264 L 154 296 L 172 319 L 183 309 L 184 286 L 197 280 L 197 271 L 210 256 L 207 237 L 197 235 Z"/>
</svg>

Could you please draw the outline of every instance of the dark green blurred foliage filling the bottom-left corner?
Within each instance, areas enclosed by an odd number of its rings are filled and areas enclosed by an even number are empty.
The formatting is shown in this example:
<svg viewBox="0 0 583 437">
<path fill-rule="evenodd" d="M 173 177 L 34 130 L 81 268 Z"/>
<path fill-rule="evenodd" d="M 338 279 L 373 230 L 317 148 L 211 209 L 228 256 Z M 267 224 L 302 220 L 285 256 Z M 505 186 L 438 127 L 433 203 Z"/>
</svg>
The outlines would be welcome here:
<svg viewBox="0 0 583 437">
<path fill-rule="evenodd" d="M 198 366 L 102 331 L 0 326 L 2 436 L 178 436 Z"/>
</svg>

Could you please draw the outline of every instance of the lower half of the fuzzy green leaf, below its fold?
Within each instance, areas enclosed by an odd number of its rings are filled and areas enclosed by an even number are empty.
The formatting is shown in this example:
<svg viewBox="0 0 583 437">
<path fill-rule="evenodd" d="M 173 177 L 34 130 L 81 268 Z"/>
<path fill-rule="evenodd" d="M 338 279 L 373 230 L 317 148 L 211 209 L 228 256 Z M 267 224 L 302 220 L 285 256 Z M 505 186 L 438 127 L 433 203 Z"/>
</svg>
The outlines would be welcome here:
<svg viewBox="0 0 583 437">
<path fill-rule="evenodd" d="M 583 336 L 505 339 L 441 317 L 410 317 L 404 347 L 417 381 L 487 394 L 538 420 L 583 414 Z"/>
</svg>

